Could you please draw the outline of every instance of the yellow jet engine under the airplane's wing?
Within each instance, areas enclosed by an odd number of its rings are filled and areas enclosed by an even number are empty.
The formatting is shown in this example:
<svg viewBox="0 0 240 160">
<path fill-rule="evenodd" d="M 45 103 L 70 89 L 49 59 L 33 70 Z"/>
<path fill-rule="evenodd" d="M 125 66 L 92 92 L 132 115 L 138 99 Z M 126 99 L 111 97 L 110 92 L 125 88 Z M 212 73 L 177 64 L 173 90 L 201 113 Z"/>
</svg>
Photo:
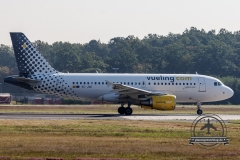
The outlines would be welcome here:
<svg viewBox="0 0 240 160">
<path fill-rule="evenodd" d="M 146 109 L 174 110 L 175 106 L 176 96 L 174 95 L 152 96 L 147 100 L 141 101 L 141 107 Z"/>
</svg>

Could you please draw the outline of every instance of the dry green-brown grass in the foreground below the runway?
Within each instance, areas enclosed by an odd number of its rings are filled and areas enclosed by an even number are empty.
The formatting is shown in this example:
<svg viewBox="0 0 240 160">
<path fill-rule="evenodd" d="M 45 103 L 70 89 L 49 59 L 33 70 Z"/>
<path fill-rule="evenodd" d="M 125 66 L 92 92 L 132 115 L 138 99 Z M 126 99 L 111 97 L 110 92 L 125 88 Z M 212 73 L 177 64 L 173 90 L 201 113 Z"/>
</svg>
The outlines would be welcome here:
<svg viewBox="0 0 240 160">
<path fill-rule="evenodd" d="M 234 121 L 232 121 L 234 122 Z M 239 123 L 227 124 L 229 146 L 189 146 L 190 122 L 1 120 L 0 155 L 26 157 L 240 159 Z"/>
</svg>

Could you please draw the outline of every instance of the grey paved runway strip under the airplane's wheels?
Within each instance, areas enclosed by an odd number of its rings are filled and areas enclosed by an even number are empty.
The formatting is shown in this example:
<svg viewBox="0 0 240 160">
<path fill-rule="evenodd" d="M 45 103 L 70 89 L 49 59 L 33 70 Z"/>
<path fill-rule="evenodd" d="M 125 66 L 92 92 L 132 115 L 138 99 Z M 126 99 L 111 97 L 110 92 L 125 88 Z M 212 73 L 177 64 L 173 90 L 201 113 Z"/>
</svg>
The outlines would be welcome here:
<svg viewBox="0 0 240 160">
<path fill-rule="evenodd" d="M 240 115 L 219 114 L 224 121 L 240 120 Z M 119 114 L 32 114 L 32 113 L 0 113 L 0 120 L 4 119 L 22 119 L 22 120 L 71 120 L 71 119 L 110 119 L 110 120 L 181 120 L 192 121 L 198 117 L 196 114 L 133 114 L 124 116 Z"/>
</svg>

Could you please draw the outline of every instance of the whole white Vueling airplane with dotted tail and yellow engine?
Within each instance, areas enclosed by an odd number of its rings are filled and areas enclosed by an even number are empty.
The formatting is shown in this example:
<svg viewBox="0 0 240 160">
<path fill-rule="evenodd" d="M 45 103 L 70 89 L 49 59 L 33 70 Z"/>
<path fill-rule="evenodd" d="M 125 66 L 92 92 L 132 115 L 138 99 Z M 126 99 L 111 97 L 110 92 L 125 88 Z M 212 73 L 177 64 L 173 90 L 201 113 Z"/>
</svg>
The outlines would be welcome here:
<svg viewBox="0 0 240 160">
<path fill-rule="evenodd" d="M 10 33 L 19 75 L 4 82 L 44 94 L 76 100 L 99 100 L 121 104 L 118 113 L 131 115 L 131 105 L 156 110 L 174 110 L 176 103 L 196 103 L 233 96 L 219 79 L 199 74 L 62 73 L 55 70 L 28 38 Z M 127 104 L 127 107 L 124 105 Z"/>
</svg>

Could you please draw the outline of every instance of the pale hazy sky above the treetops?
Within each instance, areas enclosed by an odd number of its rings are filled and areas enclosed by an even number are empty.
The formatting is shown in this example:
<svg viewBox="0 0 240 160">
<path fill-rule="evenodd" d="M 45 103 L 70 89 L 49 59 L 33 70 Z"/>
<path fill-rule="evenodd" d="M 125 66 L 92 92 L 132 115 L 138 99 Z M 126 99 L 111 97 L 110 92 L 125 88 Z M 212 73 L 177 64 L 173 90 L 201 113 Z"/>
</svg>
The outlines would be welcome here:
<svg viewBox="0 0 240 160">
<path fill-rule="evenodd" d="M 142 39 L 192 26 L 234 32 L 240 30 L 239 6 L 239 0 L 0 0 L 0 44 L 11 44 L 9 32 L 48 43 Z"/>
</svg>

